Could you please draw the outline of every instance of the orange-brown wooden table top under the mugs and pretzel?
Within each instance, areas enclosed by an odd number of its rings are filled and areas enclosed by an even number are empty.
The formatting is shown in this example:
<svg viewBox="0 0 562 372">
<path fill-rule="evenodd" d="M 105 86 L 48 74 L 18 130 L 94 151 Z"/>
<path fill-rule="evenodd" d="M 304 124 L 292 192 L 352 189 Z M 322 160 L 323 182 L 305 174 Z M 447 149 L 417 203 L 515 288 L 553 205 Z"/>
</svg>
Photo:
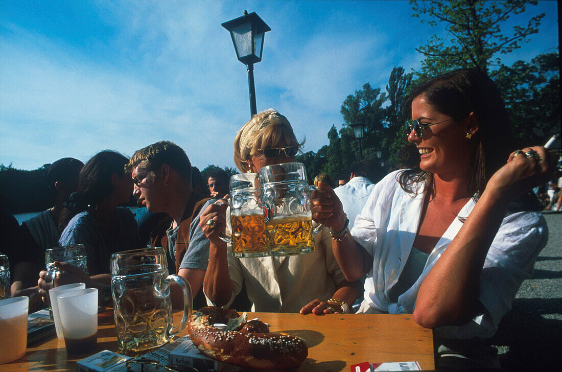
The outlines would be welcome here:
<svg viewBox="0 0 562 372">
<path fill-rule="evenodd" d="M 348 372 L 351 365 L 360 362 L 418 361 L 422 369 L 434 369 L 432 330 L 414 323 L 410 315 L 248 313 L 248 319 L 255 317 L 269 323 L 271 332 L 306 340 L 309 356 L 301 372 Z M 176 312 L 174 322 L 180 318 Z M 98 324 L 97 351 L 117 351 L 112 314 L 101 314 Z M 185 334 L 187 329 L 180 333 Z M 55 336 L 29 347 L 24 357 L 0 365 L 0 370 L 75 371 L 76 360 L 83 357 L 67 358 L 64 341 Z"/>
</svg>

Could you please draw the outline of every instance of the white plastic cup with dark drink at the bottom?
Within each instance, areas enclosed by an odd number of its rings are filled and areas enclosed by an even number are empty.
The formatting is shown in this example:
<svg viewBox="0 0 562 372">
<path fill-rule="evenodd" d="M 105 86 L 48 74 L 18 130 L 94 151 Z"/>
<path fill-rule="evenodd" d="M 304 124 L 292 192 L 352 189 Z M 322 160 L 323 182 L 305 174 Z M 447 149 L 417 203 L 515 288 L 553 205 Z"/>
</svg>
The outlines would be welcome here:
<svg viewBox="0 0 562 372">
<path fill-rule="evenodd" d="M 79 355 L 96 348 L 98 342 L 98 290 L 79 289 L 57 296 L 66 353 Z"/>
</svg>

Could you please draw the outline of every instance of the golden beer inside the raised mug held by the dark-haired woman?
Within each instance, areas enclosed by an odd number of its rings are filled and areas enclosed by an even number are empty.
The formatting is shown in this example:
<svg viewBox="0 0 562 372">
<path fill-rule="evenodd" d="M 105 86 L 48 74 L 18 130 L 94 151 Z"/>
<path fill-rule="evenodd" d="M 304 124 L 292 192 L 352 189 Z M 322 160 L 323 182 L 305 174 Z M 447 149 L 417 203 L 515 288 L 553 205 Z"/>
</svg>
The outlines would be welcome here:
<svg viewBox="0 0 562 372">
<path fill-rule="evenodd" d="M 273 217 L 265 224 L 272 241 L 271 255 L 287 256 L 314 251 L 310 215 Z"/>
</svg>

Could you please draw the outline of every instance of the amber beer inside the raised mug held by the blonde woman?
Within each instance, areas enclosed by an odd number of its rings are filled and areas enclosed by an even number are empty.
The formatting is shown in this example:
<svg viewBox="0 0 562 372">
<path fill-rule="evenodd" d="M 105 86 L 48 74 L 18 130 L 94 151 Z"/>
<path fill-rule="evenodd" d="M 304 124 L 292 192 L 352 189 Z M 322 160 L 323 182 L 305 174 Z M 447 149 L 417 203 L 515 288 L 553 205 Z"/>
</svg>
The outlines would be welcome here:
<svg viewBox="0 0 562 372">
<path fill-rule="evenodd" d="M 265 235 L 264 215 L 231 215 L 232 254 L 234 257 L 263 257 L 269 255 Z"/>
</svg>

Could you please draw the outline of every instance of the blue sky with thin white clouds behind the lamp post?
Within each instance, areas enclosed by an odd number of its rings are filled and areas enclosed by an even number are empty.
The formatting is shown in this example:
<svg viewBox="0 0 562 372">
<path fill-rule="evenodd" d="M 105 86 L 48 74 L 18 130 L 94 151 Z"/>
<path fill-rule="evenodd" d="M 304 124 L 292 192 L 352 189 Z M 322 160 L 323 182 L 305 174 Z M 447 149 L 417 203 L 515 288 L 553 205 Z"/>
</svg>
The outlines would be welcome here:
<svg viewBox="0 0 562 372">
<path fill-rule="evenodd" d="M 349 94 L 367 82 L 384 90 L 395 66 L 419 69 L 414 49 L 447 34 L 412 18 L 407 1 L 0 0 L 0 163 L 131 156 L 166 139 L 200 169 L 234 167 L 248 80 L 221 23 L 244 10 L 271 28 L 255 65 L 257 110 L 287 116 L 305 152 L 341 128 Z M 557 50 L 556 1 L 510 21 L 541 12 L 540 33 L 504 63 Z"/>
</svg>

